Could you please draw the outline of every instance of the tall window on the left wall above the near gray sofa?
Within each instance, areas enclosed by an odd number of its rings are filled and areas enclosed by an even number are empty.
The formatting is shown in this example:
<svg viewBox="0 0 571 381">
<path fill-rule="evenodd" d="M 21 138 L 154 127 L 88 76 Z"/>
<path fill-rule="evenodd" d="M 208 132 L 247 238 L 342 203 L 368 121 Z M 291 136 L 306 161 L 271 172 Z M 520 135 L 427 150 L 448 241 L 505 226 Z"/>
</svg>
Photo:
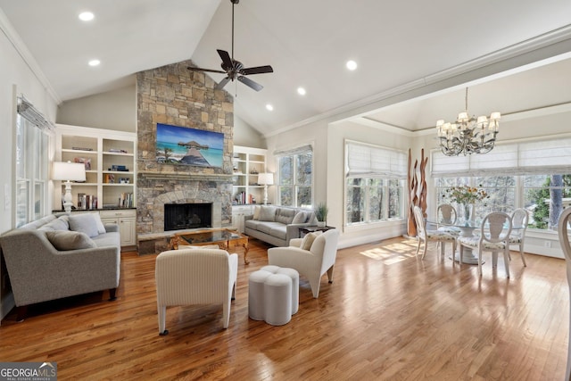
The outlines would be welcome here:
<svg viewBox="0 0 571 381">
<path fill-rule="evenodd" d="M 20 114 L 16 116 L 16 228 L 46 215 L 49 138 Z"/>
</svg>

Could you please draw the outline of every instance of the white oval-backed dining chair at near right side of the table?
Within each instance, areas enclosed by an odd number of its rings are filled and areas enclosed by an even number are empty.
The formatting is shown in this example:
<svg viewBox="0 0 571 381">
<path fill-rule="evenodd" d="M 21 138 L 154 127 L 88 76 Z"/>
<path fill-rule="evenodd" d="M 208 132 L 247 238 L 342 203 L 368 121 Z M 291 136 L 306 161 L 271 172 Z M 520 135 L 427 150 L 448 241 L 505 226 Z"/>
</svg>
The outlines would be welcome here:
<svg viewBox="0 0 571 381">
<path fill-rule="evenodd" d="M 509 277 L 509 234 L 511 233 L 511 217 L 502 211 L 488 213 L 482 221 L 478 236 L 459 236 L 460 261 L 464 248 L 478 251 L 478 274 L 482 276 L 482 252 L 492 252 L 492 267 L 498 265 L 498 253 L 503 253 L 506 275 Z"/>
</svg>

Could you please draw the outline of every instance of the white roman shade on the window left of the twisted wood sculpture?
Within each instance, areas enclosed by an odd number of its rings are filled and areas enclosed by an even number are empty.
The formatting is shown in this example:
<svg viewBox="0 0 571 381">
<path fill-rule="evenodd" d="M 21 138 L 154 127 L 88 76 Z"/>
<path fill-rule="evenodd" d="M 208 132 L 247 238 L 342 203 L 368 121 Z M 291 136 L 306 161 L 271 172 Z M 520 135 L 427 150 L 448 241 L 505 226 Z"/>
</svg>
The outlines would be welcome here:
<svg viewBox="0 0 571 381">
<path fill-rule="evenodd" d="M 348 178 L 406 178 L 406 153 L 378 145 L 345 141 Z"/>
</svg>

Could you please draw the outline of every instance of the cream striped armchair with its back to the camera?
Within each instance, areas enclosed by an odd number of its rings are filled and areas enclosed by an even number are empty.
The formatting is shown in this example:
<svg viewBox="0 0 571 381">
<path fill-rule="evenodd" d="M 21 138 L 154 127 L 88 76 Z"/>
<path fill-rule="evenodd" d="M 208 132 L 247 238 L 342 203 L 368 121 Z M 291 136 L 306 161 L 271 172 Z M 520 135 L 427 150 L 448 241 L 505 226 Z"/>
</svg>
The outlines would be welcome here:
<svg viewBox="0 0 571 381">
<path fill-rule="evenodd" d="M 168 306 L 222 304 L 222 323 L 228 328 L 230 302 L 236 293 L 238 255 L 219 249 L 183 249 L 157 256 L 154 277 L 157 286 L 159 334 L 165 329 Z"/>
</svg>

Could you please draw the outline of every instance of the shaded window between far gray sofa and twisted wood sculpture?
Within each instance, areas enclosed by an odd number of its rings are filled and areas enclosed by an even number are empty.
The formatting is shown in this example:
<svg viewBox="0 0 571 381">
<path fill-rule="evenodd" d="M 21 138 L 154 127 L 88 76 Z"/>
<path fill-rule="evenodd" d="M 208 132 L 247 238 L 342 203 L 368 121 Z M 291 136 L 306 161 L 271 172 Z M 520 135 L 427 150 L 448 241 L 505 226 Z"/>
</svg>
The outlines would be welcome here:
<svg viewBox="0 0 571 381">
<path fill-rule="evenodd" d="M 345 225 L 403 219 L 406 155 L 347 141 Z"/>
</svg>

